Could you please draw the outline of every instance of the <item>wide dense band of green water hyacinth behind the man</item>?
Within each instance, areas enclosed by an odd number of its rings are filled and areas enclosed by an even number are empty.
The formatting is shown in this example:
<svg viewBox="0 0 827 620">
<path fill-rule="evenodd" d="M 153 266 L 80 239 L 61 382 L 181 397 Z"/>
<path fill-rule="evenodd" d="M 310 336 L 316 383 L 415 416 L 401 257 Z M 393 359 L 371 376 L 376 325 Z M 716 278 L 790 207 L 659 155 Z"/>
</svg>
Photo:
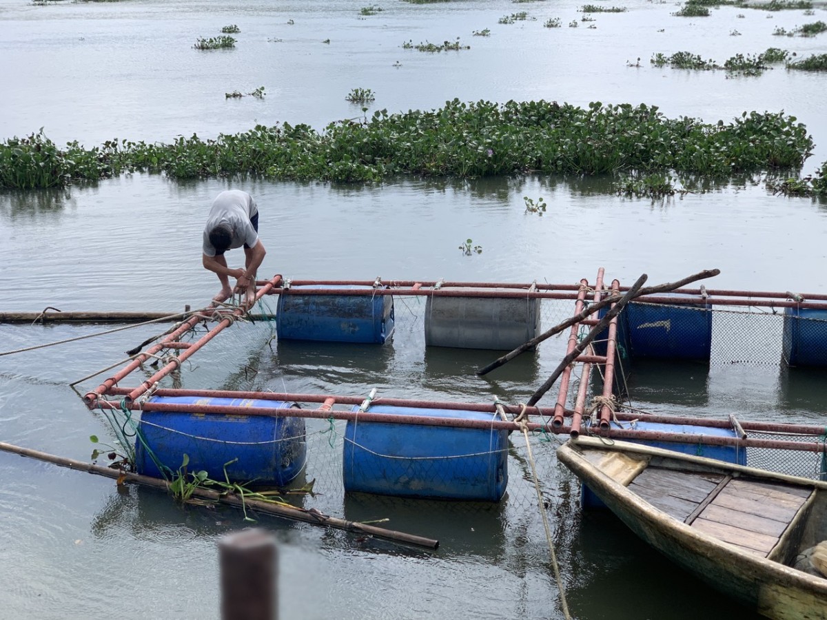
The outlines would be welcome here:
<svg viewBox="0 0 827 620">
<path fill-rule="evenodd" d="M 783 112 L 743 112 L 708 124 L 657 107 L 458 99 L 429 112 L 375 112 L 361 122 L 256 126 L 170 144 L 107 141 L 58 148 L 42 131 L 0 143 L 0 187 L 45 188 L 139 170 L 173 179 L 255 174 L 269 179 L 377 181 L 396 174 L 698 174 L 726 178 L 798 169 L 811 136 Z"/>
</svg>

